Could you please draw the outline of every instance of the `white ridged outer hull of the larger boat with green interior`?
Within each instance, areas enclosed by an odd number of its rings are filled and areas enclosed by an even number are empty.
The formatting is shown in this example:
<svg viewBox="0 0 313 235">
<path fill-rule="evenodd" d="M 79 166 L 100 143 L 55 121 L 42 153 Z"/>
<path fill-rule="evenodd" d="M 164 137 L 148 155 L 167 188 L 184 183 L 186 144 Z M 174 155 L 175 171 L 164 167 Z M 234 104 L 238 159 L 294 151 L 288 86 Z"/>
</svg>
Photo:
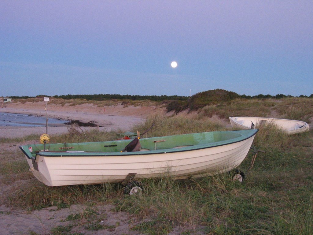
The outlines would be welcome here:
<svg viewBox="0 0 313 235">
<path fill-rule="evenodd" d="M 257 130 L 233 143 L 130 153 L 46 153 L 26 158 L 33 175 L 45 185 L 80 185 L 121 182 L 130 173 L 135 178 L 168 175 L 177 179 L 214 175 L 232 170 L 244 160 Z M 144 139 L 142 139 L 143 141 Z M 145 139 L 146 140 L 146 139 Z M 105 143 L 105 142 L 103 142 Z M 21 148 L 22 147 L 22 148 Z M 21 146 L 25 150 L 29 146 Z M 24 148 L 23 148 L 24 147 Z M 49 155 L 50 154 L 50 155 Z M 52 154 L 52 155 L 51 155 Z M 59 156 L 58 156 L 59 155 Z"/>
</svg>

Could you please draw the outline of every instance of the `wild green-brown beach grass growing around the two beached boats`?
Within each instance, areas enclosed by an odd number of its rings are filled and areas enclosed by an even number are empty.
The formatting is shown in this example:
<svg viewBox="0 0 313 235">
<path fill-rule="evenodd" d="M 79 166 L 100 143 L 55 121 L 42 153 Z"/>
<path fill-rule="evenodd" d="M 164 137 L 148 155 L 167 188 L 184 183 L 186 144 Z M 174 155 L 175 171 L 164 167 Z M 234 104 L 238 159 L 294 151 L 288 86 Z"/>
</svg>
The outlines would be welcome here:
<svg viewBox="0 0 313 235">
<path fill-rule="evenodd" d="M 279 113 L 285 118 L 307 118 L 309 122 L 313 105 L 310 100 L 307 102 L 309 105 L 303 107 L 297 105 L 297 100 L 289 98 L 280 102 L 236 99 L 205 107 L 195 116 L 168 117 L 156 110 L 146 122 L 134 126 L 132 131 L 142 133 L 153 126 L 142 136 L 145 138 L 228 130 L 223 123 L 210 119 L 213 114 L 227 119 L 228 116 Z M 116 132 L 100 132 L 97 128 L 88 132 L 77 126 L 69 128 L 68 134 L 53 135 L 53 142 L 105 141 L 117 136 Z M 19 140 L 11 140 L 11 143 L 16 141 Z M 14 158 L 3 162 L 0 173 L 5 175 L 2 179 L 6 180 L 9 180 L 8 175 L 13 175 L 9 183 L 16 184 L 6 200 L 9 206 L 34 210 L 49 206 L 60 209 L 73 204 L 113 204 L 113 211 L 127 212 L 139 221 L 130 228 L 140 234 L 167 234 L 175 227 L 181 227 L 180 234 L 306 235 L 313 234 L 312 142 L 312 130 L 286 135 L 274 125 L 265 125 L 254 139 L 255 149 L 263 152 L 258 152 L 253 168 L 248 171 L 254 155 L 252 149 L 239 166 L 245 173 L 243 183 L 232 180 L 234 172 L 189 180 L 163 176 L 140 180 L 144 190 L 136 196 L 124 195 L 121 183 L 45 186 L 31 178 L 22 154 L 19 160 Z M 10 143 L 10 140 L 2 143 Z M 3 154 L 6 157 L 2 159 L 10 159 L 12 153 Z M 6 180 L 2 183 L 5 184 Z M 92 214 L 82 212 L 72 215 L 72 219 L 84 220 Z M 87 230 L 97 229 L 97 224 L 86 226 Z M 62 229 L 56 227 L 52 232 Z"/>
</svg>

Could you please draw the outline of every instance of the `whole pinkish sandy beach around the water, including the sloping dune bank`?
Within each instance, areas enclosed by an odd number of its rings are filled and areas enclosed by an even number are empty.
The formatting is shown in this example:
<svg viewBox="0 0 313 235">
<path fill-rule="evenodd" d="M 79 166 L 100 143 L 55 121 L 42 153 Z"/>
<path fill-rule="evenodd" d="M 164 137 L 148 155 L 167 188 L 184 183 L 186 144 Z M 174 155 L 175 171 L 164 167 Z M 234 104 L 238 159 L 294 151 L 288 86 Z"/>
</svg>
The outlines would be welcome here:
<svg viewBox="0 0 313 235">
<path fill-rule="evenodd" d="M 6 107 L 0 107 L 0 112 L 30 114 L 38 117 L 48 117 L 48 134 L 66 133 L 68 125 L 51 126 L 49 118 L 57 118 L 82 123 L 93 123 L 99 126 L 101 131 L 119 130 L 129 131 L 134 124 L 145 120 L 146 116 L 155 110 L 151 107 L 134 107 L 114 105 L 108 107 L 98 107 L 94 104 L 82 104 L 77 106 L 69 105 L 48 105 L 45 111 L 45 102 L 7 103 Z M 94 127 L 81 127 L 87 130 Z M 0 127 L 0 137 L 23 137 L 29 134 L 42 134 L 46 132 L 46 127 Z"/>
</svg>

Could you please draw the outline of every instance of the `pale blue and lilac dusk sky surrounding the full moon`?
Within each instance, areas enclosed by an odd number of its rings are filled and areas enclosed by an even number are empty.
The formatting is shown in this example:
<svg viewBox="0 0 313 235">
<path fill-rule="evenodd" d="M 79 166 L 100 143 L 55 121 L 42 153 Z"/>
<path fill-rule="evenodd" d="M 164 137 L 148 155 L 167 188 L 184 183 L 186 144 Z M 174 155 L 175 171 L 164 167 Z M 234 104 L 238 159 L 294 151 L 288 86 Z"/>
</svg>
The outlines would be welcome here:
<svg viewBox="0 0 313 235">
<path fill-rule="evenodd" d="M 0 81 L 0 96 L 309 96 L 313 1 L 0 0 Z"/>
</svg>

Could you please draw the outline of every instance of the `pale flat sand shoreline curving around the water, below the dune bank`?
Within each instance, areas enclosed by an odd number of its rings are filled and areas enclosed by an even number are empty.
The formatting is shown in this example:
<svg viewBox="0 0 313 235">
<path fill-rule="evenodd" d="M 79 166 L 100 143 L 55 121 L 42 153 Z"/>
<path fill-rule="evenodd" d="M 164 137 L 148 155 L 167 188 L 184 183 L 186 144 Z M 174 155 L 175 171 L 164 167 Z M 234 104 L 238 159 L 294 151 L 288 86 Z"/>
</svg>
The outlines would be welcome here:
<svg viewBox="0 0 313 235">
<path fill-rule="evenodd" d="M 11 105 L 10 105 L 11 106 Z M 14 103 L 13 105 L 14 106 Z M 123 107 L 115 107 L 115 111 L 119 111 Z M 131 109 L 125 108 L 125 109 Z M 58 111 L 57 111 L 58 110 Z M 36 117 L 46 117 L 46 111 L 25 108 L 5 107 L 0 108 L 0 112 L 15 113 L 15 114 L 28 114 Z M 131 111 L 130 111 L 131 112 Z M 135 111 L 136 112 L 136 111 Z M 92 128 L 99 128 L 100 131 L 130 131 L 132 126 L 141 123 L 145 120 L 142 117 L 134 117 L 131 115 L 116 115 L 115 112 L 110 113 L 95 113 L 90 110 L 82 109 L 81 112 L 73 112 L 72 110 L 63 111 L 62 108 L 47 111 L 48 118 L 56 118 L 60 120 L 67 120 L 69 123 L 79 123 L 84 131 Z M 82 124 L 81 124 L 82 123 Z M 88 124 L 93 125 L 87 126 Z M 48 120 L 48 134 L 63 134 L 68 132 L 69 124 L 51 124 L 49 126 Z M 17 138 L 24 137 L 30 134 L 43 134 L 46 132 L 46 127 L 29 127 L 29 126 L 0 126 L 0 138 Z"/>
</svg>

